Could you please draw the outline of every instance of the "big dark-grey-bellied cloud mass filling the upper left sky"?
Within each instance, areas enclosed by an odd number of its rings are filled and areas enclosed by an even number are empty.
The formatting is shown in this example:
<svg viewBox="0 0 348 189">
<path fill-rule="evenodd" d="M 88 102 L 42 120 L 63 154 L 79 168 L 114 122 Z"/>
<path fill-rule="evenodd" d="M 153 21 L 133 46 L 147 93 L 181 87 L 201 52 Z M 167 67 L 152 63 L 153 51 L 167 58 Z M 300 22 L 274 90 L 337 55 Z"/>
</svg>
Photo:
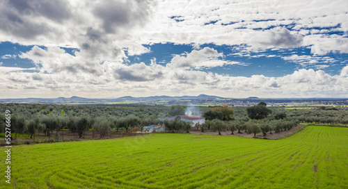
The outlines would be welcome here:
<svg viewBox="0 0 348 189">
<path fill-rule="evenodd" d="M 148 49 L 134 42 L 152 1 L 1 1 L 0 40 L 80 49 L 89 62 L 120 60 Z"/>
</svg>

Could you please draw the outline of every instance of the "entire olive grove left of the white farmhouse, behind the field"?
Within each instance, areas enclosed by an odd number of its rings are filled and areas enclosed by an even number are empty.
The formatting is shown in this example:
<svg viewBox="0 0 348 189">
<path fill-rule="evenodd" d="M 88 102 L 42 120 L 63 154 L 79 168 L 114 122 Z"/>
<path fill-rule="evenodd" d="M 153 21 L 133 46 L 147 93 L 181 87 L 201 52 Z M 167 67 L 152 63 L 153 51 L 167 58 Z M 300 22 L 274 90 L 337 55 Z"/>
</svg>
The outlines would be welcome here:
<svg viewBox="0 0 348 189">
<path fill-rule="evenodd" d="M 128 132 L 134 126 L 163 124 L 158 117 L 168 114 L 166 106 L 67 106 L 52 104 L 0 104 L 0 132 L 5 131 L 5 110 L 11 111 L 11 131 L 14 133 L 43 132 L 68 129 L 82 137 L 84 131 L 93 129 L 101 136 L 112 129 Z M 14 136 L 14 135 L 13 135 Z"/>
</svg>

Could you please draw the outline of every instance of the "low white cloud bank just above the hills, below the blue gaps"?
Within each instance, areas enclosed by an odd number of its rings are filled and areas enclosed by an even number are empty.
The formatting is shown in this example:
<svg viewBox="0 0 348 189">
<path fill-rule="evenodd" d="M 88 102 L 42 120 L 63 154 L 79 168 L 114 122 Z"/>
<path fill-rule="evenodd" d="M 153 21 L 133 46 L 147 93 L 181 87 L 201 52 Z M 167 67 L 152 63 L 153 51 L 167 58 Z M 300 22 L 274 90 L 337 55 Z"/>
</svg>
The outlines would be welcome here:
<svg viewBox="0 0 348 189">
<path fill-rule="evenodd" d="M 348 69 L 340 76 L 331 76 L 323 71 L 299 69 L 293 74 L 279 77 L 264 75 L 228 76 L 199 70 L 173 69 L 153 63 L 125 65 L 106 62 L 100 65 L 105 72 L 92 77 L 73 74 L 45 74 L 7 72 L 0 79 L 1 97 L 10 91 L 29 97 L 120 97 L 150 95 L 197 95 L 214 92 L 223 97 L 345 97 L 348 92 Z M 0 69 L 1 70 L 1 69 Z M 17 70 L 17 69 L 12 69 Z M 6 72 L 6 71 L 3 71 Z M 12 88 L 8 88 L 8 87 Z M 35 88 L 35 92 L 28 91 Z"/>
</svg>

